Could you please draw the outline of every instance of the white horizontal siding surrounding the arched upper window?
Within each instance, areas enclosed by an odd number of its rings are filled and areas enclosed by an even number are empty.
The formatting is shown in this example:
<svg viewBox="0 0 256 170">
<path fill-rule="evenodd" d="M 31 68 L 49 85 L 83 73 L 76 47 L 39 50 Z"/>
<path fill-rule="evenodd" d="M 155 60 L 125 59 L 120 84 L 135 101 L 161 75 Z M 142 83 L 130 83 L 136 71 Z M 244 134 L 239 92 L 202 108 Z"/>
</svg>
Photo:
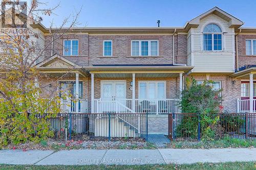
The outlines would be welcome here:
<svg viewBox="0 0 256 170">
<path fill-rule="evenodd" d="M 203 51 L 203 29 L 208 23 L 216 23 L 224 32 L 222 36 L 223 51 Z M 191 46 L 193 46 L 190 57 L 191 65 L 195 66 L 192 72 L 234 72 L 234 43 L 232 42 L 234 29 L 228 27 L 228 21 L 211 14 L 201 19 L 198 28 L 191 28 L 190 32 Z"/>
</svg>

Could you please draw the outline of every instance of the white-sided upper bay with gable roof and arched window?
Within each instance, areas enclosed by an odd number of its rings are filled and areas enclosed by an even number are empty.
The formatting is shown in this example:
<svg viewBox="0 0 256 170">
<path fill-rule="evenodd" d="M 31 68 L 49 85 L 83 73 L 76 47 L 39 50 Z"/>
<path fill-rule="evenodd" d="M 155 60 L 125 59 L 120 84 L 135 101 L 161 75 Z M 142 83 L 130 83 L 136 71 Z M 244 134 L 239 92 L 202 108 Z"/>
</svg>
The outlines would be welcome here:
<svg viewBox="0 0 256 170">
<path fill-rule="evenodd" d="M 243 22 L 214 7 L 186 23 L 191 72 L 234 72 L 234 30 Z"/>
</svg>

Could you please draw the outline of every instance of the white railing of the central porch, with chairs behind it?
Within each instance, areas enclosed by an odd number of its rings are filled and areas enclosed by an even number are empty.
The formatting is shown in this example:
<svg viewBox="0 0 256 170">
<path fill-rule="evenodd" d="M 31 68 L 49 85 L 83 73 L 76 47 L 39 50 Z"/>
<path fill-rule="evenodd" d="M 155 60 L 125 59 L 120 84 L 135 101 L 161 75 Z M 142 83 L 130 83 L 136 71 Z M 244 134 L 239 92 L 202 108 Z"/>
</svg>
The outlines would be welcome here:
<svg viewBox="0 0 256 170">
<path fill-rule="evenodd" d="M 94 110 L 96 113 L 179 113 L 178 99 L 135 99 L 133 108 L 132 99 L 104 101 L 95 99 Z"/>
</svg>

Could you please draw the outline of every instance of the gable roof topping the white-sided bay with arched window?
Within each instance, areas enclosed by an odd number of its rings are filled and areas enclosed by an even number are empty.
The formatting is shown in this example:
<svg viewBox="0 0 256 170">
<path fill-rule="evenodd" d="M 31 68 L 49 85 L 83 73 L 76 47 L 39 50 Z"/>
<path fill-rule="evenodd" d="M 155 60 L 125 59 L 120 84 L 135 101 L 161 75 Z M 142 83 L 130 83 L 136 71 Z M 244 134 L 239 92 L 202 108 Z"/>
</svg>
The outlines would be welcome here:
<svg viewBox="0 0 256 170">
<path fill-rule="evenodd" d="M 218 7 L 214 7 L 212 9 L 204 12 L 203 14 L 197 16 L 196 18 L 188 21 L 185 25 L 185 28 L 188 27 L 188 29 L 189 29 L 191 27 L 198 27 L 200 24 L 200 19 L 203 19 L 203 18 L 209 16 L 210 14 L 215 14 L 215 15 L 221 17 L 222 19 L 228 21 L 229 27 L 232 27 L 232 28 L 239 28 L 244 24 L 244 22 L 242 20 L 228 14 L 227 12 L 223 11 L 222 9 L 220 9 Z"/>
</svg>

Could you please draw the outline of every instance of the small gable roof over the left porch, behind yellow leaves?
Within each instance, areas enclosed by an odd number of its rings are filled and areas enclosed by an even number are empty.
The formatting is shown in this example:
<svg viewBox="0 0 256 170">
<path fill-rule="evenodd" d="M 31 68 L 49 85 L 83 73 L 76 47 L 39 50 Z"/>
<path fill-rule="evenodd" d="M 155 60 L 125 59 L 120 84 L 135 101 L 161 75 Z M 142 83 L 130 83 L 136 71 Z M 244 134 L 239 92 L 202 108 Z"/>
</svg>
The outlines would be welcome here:
<svg viewBox="0 0 256 170">
<path fill-rule="evenodd" d="M 36 69 L 71 69 L 71 68 L 82 68 L 76 63 L 61 57 L 58 54 L 54 54 L 50 58 L 36 64 Z"/>
</svg>

